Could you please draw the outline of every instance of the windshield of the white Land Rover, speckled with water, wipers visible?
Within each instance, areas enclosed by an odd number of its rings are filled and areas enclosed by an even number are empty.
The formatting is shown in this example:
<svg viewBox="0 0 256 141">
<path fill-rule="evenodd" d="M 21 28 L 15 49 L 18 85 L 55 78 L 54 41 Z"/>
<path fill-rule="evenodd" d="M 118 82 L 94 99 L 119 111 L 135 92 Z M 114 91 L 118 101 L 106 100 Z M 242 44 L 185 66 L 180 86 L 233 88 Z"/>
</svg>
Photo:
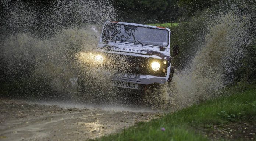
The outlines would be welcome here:
<svg viewBox="0 0 256 141">
<path fill-rule="evenodd" d="M 102 40 L 167 47 L 168 35 L 169 33 L 166 29 L 106 23 L 102 33 Z"/>
</svg>

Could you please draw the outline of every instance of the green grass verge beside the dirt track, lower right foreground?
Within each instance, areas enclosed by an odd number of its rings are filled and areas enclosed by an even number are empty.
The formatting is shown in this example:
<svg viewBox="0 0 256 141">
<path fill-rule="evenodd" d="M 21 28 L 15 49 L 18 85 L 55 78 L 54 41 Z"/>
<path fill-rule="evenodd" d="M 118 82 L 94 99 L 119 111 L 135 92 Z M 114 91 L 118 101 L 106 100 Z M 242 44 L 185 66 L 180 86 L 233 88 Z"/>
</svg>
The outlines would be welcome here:
<svg viewBox="0 0 256 141">
<path fill-rule="evenodd" d="M 121 133 L 104 136 L 99 141 L 208 141 L 199 130 L 206 126 L 256 120 L 256 89 L 231 93 L 199 105 L 166 114 L 150 122 L 140 122 Z M 161 128 L 164 127 L 165 131 Z M 241 140 L 241 139 L 238 139 Z"/>
</svg>

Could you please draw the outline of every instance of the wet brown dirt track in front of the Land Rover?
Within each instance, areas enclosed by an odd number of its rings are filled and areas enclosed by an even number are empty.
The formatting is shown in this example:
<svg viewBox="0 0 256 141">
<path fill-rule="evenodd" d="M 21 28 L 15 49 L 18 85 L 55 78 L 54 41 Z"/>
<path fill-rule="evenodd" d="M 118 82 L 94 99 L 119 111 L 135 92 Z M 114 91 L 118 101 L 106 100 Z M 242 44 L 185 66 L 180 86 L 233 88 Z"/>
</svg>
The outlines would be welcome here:
<svg viewBox="0 0 256 141">
<path fill-rule="evenodd" d="M 4 99 L 0 100 L 0 140 L 88 140 L 160 116 L 159 113 L 67 108 Z"/>
</svg>

